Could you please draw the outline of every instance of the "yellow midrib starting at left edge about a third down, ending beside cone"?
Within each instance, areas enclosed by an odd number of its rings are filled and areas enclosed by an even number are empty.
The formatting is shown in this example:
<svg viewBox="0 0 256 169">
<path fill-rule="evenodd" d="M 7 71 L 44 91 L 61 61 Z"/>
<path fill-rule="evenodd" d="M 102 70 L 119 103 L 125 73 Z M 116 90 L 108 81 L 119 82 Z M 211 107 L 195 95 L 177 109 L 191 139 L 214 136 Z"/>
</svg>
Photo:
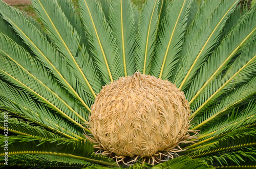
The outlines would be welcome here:
<svg viewBox="0 0 256 169">
<path fill-rule="evenodd" d="M 3 53 L 5 53 L 3 50 L 0 50 Z M 38 78 L 36 78 L 34 75 L 32 75 L 29 71 L 27 71 L 27 69 L 25 69 L 22 65 L 18 64 L 13 58 L 11 58 L 7 53 L 5 53 L 5 55 L 7 55 L 8 58 L 10 58 L 10 60 L 12 60 L 14 63 L 16 63 L 20 68 L 22 68 L 24 71 L 26 71 L 30 76 L 32 76 L 36 81 L 38 81 L 39 83 L 41 83 L 42 86 L 44 86 L 49 92 L 51 92 L 55 97 L 58 98 L 58 100 L 60 100 L 63 104 L 65 104 L 71 111 L 74 112 L 74 114 L 79 117 L 83 122 L 88 123 L 83 117 L 81 117 L 72 107 L 70 107 L 64 100 L 62 100 L 56 93 L 54 93 L 50 88 L 48 88 L 45 83 L 43 83 L 42 81 L 40 81 Z"/>
</svg>

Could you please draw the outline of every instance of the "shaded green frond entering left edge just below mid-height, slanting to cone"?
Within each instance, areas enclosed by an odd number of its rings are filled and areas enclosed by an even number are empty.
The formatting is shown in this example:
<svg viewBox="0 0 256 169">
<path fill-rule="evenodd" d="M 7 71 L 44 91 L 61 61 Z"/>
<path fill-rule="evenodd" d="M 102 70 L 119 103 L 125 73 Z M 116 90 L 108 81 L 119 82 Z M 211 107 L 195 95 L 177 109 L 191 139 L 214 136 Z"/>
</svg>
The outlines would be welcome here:
<svg viewBox="0 0 256 169">
<path fill-rule="evenodd" d="M 45 128 L 65 137 L 83 138 L 83 130 L 71 125 L 69 121 L 52 114 L 45 106 L 36 102 L 26 93 L 7 85 L 2 80 L 0 107 L 4 111 L 14 115 L 14 118 L 22 118 L 26 122 Z"/>
</svg>

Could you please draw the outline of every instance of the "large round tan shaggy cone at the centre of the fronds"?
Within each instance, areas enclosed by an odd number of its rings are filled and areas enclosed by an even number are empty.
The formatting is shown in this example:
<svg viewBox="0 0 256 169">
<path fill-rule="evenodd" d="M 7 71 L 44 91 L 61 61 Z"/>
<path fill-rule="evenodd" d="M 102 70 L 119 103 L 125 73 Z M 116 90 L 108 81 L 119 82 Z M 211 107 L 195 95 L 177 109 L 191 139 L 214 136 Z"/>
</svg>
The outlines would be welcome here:
<svg viewBox="0 0 256 169">
<path fill-rule="evenodd" d="M 92 105 L 94 139 L 118 156 L 169 151 L 187 133 L 189 104 L 167 80 L 135 73 L 103 87 Z"/>
</svg>

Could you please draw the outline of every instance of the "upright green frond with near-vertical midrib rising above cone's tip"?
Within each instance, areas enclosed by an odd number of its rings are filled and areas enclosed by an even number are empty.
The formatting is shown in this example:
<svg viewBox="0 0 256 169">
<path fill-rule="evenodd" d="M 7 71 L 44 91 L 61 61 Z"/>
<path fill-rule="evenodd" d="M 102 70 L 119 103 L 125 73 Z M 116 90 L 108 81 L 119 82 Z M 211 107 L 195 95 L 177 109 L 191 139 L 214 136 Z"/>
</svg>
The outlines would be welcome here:
<svg viewBox="0 0 256 169">
<path fill-rule="evenodd" d="M 133 7 L 130 1 L 120 0 L 110 3 L 110 25 L 116 38 L 124 76 L 135 73 L 135 35 L 136 27 Z"/>
</svg>

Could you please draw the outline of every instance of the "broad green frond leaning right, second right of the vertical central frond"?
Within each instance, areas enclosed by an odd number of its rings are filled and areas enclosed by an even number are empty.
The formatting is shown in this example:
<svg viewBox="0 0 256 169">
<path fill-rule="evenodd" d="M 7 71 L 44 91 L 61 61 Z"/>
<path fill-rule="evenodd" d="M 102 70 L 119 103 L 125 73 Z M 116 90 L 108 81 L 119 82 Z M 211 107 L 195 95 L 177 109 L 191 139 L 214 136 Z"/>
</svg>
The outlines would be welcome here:
<svg viewBox="0 0 256 169">
<path fill-rule="evenodd" d="M 155 57 L 152 62 L 152 74 L 168 79 L 172 76 L 179 51 L 181 50 L 186 20 L 191 1 L 172 1 L 168 12 L 158 30 Z"/>
</svg>

